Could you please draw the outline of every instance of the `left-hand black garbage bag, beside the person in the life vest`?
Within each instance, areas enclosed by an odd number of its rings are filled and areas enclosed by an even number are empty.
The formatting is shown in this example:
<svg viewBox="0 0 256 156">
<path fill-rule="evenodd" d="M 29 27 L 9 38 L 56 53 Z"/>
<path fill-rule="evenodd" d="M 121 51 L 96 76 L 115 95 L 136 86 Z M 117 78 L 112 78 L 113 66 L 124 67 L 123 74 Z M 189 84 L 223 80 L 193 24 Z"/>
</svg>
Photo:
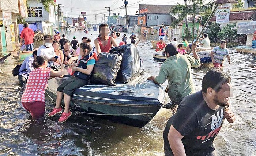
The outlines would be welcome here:
<svg viewBox="0 0 256 156">
<path fill-rule="evenodd" d="M 110 54 L 102 52 L 97 56 L 90 83 L 103 83 L 106 85 L 116 85 L 115 79 L 120 69 L 122 54 Z"/>
</svg>

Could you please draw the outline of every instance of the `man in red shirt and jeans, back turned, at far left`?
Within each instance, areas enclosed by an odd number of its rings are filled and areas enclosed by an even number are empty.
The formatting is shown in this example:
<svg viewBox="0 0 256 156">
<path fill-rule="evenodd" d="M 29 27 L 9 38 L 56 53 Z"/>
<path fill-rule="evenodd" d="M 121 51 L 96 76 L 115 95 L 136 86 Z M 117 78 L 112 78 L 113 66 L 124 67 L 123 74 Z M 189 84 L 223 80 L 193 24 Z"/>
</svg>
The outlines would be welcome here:
<svg viewBox="0 0 256 156">
<path fill-rule="evenodd" d="M 32 29 L 28 28 L 29 24 L 25 23 L 23 25 L 24 29 L 20 33 L 20 45 L 22 45 L 22 42 L 24 40 L 26 50 L 27 51 L 33 51 L 34 50 L 34 40 L 35 33 Z"/>
</svg>

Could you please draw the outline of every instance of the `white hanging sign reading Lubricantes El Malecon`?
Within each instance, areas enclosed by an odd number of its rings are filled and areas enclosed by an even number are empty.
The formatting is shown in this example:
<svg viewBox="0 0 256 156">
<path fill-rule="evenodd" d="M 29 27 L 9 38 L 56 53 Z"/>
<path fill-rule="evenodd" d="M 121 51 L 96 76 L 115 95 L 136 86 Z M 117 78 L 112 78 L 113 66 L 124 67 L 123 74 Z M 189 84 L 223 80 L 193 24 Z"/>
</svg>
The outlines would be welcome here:
<svg viewBox="0 0 256 156">
<path fill-rule="evenodd" d="M 230 7 L 218 7 L 216 15 L 216 23 L 229 22 Z"/>
</svg>

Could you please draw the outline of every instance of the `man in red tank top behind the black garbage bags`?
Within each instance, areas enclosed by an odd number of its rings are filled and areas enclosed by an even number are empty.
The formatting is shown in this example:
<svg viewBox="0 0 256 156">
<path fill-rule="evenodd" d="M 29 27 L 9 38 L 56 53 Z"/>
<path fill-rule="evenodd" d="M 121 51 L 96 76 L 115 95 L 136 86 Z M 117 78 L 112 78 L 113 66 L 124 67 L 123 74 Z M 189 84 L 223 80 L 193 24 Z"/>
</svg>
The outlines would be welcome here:
<svg viewBox="0 0 256 156">
<path fill-rule="evenodd" d="M 99 25 L 99 33 L 101 34 L 101 36 L 94 40 L 94 45 L 97 50 L 97 54 L 101 52 L 109 52 L 112 45 L 114 47 L 118 47 L 116 40 L 113 37 L 108 36 L 108 24 L 102 23 L 101 25 Z"/>
</svg>

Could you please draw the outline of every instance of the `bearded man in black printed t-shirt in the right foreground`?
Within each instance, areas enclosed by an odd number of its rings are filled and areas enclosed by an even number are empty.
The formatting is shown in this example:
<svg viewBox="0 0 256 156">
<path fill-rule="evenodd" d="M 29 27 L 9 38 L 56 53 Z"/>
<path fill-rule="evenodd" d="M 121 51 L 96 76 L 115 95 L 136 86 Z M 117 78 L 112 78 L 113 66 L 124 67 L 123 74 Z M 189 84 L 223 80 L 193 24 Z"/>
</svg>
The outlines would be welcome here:
<svg viewBox="0 0 256 156">
<path fill-rule="evenodd" d="M 231 78 L 214 69 L 202 81 L 202 90 L 186 96 L 163 132 L 165 156 L 217 156 L 214 139 L 224 119 L 236 118 L 229 106 Z"/>
</svg>

